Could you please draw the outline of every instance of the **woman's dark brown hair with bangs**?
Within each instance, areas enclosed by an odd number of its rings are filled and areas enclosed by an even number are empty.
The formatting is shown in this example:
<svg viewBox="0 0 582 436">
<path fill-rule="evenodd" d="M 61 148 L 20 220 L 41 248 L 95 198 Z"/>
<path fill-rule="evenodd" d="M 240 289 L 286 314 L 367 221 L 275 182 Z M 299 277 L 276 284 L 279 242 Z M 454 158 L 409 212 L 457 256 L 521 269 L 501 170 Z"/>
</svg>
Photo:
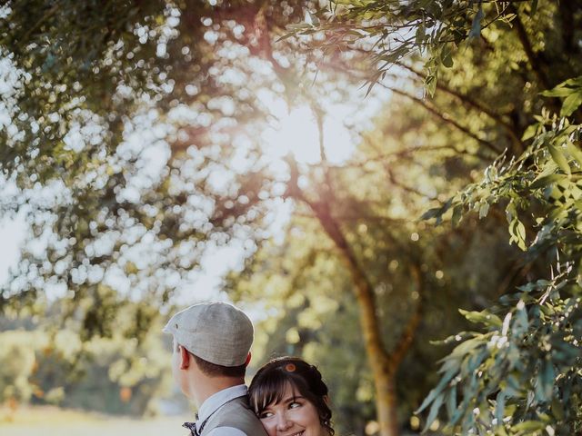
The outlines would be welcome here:
<svg viewBox="0 0 582 436">
<path fill-rule="evenodd" d="M 331 410 L 327 405 L 327 386 L 317 368 L 298 357 L 281 357 L 266 363 L 256 372 L 248 388 L 251 407 L 260 415 L 270 404 L 283 400 L 286 386 L 291 385 L 315 407 L 321 426 L 330 436 Z"/>
</svg>

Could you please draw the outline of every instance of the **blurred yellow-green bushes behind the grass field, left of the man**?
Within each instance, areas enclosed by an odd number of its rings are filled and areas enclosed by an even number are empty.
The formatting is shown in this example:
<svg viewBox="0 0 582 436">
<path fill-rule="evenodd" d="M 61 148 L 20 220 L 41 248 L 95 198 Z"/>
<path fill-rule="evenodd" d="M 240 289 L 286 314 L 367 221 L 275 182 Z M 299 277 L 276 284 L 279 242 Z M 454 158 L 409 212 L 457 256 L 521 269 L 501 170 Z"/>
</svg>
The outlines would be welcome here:
<svg viewBox="0 0 582 436">
<path fill-rule="evenodd" d="M 125 338 L 82 342 L 78 333 L 5 331 L 0 400 L 11 406 L 49 404 L 108 414 L 158 413 L 171 385 L 159 338 L 138 347 Z"/>
</svg>

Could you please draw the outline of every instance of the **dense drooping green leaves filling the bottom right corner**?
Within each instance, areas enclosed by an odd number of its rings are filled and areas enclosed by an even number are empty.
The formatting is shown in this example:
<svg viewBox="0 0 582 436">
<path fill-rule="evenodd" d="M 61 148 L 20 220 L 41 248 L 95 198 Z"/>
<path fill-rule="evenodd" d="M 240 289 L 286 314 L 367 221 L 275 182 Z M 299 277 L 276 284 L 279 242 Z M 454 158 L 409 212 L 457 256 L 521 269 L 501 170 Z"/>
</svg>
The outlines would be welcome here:
<svg viewBox="0 0 582 436">
<path fill-rule="evenodd" d="M 580 431 L 580 288 L 567 272 L 507 295 L 478 313 L 487 332 L 459 333 L 441 380 L 418 411 L 427 424 L 443 407 L 455 434 L 576 434 Z M 476 316 L 466 314 L 476 322 Z M 458 399 L 458 400 L 457 400 Z"/>
</svg>

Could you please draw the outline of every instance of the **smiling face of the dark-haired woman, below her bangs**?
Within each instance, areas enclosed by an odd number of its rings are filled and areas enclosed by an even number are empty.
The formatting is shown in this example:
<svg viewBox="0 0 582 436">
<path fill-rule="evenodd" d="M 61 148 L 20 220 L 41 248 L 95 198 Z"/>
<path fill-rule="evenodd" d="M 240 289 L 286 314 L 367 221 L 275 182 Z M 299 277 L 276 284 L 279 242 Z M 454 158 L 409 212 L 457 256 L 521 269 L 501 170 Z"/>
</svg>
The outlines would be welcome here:
<svg viewBox="0 0 582 436">
<path fill-rule="evenodd" d="M 266 406 L 259 419 L 268 436 L 326 436 L 316 406 L 289 384 L 283 399 Z"/>
</svg>

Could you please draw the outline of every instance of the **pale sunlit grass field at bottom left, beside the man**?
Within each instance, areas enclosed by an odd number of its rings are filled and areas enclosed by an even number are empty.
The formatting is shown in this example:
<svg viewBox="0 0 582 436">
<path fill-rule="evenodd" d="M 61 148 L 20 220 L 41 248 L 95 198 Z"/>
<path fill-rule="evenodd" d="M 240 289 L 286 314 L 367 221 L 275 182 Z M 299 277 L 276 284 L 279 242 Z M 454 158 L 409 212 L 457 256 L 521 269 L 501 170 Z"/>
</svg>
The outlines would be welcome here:
<svg viewBox="0 0 582 436">
<path fill-rule="evenodd" d="M 111 417 L 52 407 L 0 410 L 2 436 L 186 436 L 182 422 L 188 417 L 156 419 Z"/>
</svg>

